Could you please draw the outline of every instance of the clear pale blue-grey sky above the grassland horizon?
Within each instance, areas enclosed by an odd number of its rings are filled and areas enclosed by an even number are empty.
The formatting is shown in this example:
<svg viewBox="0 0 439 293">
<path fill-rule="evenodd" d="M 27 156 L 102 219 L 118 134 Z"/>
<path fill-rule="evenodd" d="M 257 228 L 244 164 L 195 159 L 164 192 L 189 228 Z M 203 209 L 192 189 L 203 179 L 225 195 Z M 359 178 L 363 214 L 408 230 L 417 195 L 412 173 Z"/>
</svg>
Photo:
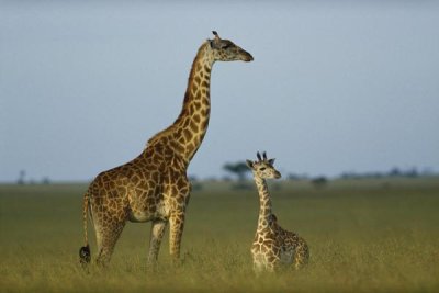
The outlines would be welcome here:
<svg viewBox="0 0 439 293">
<path fill-rule="evenodd" d="M 277 158 L 283 173 L 439 171 L 439 2 L 0 1 L 0 182 L 87 181 L 180 112 L 216 30 L 255 57 L 216 63 L 188 173 Z"/>
</svg>

